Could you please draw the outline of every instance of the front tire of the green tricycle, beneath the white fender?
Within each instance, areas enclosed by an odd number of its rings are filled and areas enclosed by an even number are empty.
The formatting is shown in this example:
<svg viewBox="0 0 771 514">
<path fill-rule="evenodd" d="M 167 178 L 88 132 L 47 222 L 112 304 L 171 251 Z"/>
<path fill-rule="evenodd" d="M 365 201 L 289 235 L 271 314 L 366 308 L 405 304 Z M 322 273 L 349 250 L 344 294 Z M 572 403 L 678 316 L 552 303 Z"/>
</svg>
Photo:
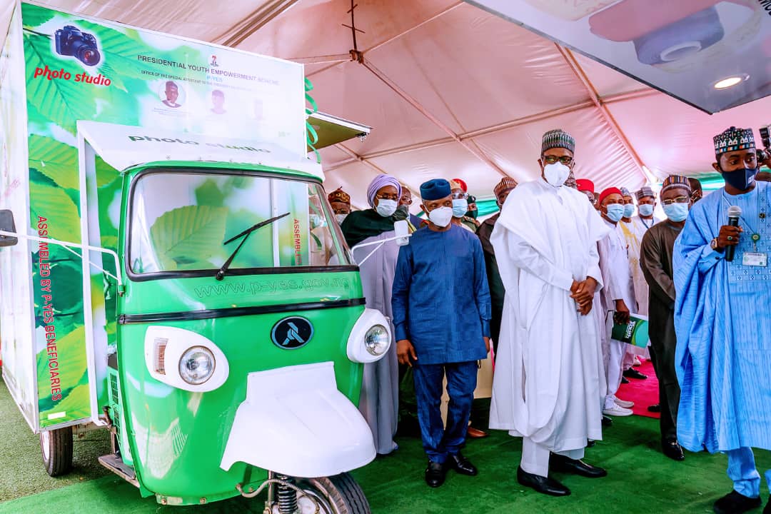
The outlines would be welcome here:
<svg viewBox="0 0 771 514">
<path fill-rule="evenodd" d="M 369 502 L 359 484 L 348 473 L 302 479 L 298 486 L 318 499 L 322 514 L 371 514 Z M 307 499 L 298 498 L 302 502 Z M 305 510 L 303 510 L 305 512 Z"/>
</svg>

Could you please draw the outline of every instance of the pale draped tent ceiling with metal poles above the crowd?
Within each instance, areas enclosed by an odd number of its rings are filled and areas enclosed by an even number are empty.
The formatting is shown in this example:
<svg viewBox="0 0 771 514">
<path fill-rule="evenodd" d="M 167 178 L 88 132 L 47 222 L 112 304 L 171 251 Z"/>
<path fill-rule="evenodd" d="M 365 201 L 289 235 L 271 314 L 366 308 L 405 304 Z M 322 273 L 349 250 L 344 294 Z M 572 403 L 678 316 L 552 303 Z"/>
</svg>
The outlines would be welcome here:
<svg viewBox="0 0 771 514">
<path fill-rule="evenodd" d="M 322 150 L 328 188 L 359 206 L 380 171 L 413 191 L 457 176 L 490 197 L 504 174 L 537 176 L 540 136 L 555 127 L 575 136 L 575 175 L 598 189 L 641 186 L 653 178 L 643 166 L 659 179 L 703 175 L 715 133 L 771 122 L 769 98 L 709 116 L 456 0 L 359 0 L 363 64 L 348 56 L 350 0 L 40 3 L 305 62 L 320 110 L 373 127 L 363 143 Z M 9 9 L 0 15 L 5 24 Z"/>
</svg>

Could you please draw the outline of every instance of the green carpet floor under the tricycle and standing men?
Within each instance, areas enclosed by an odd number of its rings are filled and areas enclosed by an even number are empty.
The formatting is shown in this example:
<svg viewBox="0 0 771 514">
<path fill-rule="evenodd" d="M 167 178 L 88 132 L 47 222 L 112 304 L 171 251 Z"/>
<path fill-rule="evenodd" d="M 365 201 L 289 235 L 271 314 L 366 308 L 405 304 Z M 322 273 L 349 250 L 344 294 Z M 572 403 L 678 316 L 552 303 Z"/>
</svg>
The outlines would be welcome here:
<svg viewBox="0 0 771 514">
<path fill-rule="evenodd" d="M 484 402 L 473 418 L 483 425 Z M 195 507 L 167 507 L 153 498 L 141 499 L 133 486 L 109 475 L 96 456 L 109 451 L 106 439 L 89 434 L 77 442 L 75 471 L 51 479 L 40 462 L 32 435 L 5 384 L 0 382 L 0 514 L 225 514 L 262 512 L 258 499 L 233 499 Z M 570 514 L 712 512 L 712 502 L 731 489 L 726 456 L 688 454 L 673 462 L 658 452 L 658 422 L 650 418 L 617 418 L 605 441 L 587 452 L 587 461 L 608 469 L 598 480 L 564 479 L 573 495 L 541 496 L 523 489 L 516 478 L 520 440 L 502 432 L 472 441 L 465 453 L 480 475 L 450 472 L 445 485 L 429 489 L 423 482 L 425 457 L 418 438 L 400 437 L 399 450 L 353 474 L 362 485 L 375 514 L 458 514 L 482 512 L 569 512 Z M 771 468 L 769 452 L 758 451 L 760 469 Z M 763 499 L 768 489 L 763 485 Z M 758 514 L 760 509 L 756 511 Z"/>
</svg>

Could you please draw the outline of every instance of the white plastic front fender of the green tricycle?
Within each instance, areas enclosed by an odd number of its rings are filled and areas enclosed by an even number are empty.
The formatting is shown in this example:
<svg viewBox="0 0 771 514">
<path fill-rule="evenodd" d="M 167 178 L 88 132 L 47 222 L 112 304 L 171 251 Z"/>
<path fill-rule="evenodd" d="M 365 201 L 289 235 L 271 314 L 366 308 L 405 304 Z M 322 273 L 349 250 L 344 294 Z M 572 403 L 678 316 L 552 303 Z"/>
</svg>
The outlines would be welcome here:
<svg viewBox="0 0 771 514">
<path fill-rule="evenodd" d="M 332 362 L 250 373 L 221 468 L 246 462 L 297 477 L 331 476 L 375 459 L 369 425 L 337 388 Z"/>
</svg>

